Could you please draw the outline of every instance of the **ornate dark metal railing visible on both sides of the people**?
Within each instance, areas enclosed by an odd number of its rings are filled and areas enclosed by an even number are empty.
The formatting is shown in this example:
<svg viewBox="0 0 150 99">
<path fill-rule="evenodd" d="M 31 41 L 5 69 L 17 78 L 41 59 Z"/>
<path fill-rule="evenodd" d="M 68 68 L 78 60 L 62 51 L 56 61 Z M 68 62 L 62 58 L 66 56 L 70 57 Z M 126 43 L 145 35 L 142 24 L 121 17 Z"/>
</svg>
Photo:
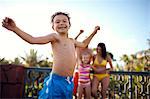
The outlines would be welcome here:
<svg viewBox="0 0 150 99">
<path fill-rule="evenodd" d="M 24 98 L 37 98 L 50 68 L 25 68 Z M 150 72 L 110 72 L 109 99 L 150 99 Z"/>
</svg>

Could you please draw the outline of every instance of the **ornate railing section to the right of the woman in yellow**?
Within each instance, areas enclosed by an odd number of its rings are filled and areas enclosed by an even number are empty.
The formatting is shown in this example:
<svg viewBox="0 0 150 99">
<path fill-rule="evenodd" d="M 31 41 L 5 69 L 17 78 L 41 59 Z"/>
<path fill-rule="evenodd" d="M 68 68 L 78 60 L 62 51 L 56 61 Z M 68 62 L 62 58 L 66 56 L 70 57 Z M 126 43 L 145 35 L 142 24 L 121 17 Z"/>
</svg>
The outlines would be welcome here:
<svg viewBox="0 0 150 99">
<path fill-rule="evenodd" d="M 150 72 L 112 71 L 109 99 L 150 99 Z"/>
</svg>

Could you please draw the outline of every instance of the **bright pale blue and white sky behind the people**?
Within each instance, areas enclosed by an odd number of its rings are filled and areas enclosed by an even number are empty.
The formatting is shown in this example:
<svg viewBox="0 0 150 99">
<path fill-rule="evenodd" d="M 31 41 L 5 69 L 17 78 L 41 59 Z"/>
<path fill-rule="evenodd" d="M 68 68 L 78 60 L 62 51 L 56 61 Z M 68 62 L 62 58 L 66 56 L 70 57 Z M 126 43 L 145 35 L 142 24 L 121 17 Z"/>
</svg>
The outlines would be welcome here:
<svg viewBox="0 0 150 99">
<path fill-rule="evenodd" d="M 103 42 L 117 60 L 123 54 L 149 48 L 150 0 L 0 0 L 0 21 L 10 17 L 32 36 L 54 33 L 50 19 L 57 11 L 67 12 L 71 17 L 69 37 L 75 38 L 80 29 L 84 30 L 78 41 L 83 41 L 95 26 L 100 26 L 89 47 L 95 48 Z M 38 56 L 51 59 L 50 44 L 28 44 L 3 28 L 1 22 L 0 58 L 25 56 L 30 49 L 35 49 Z"/>
</svg>

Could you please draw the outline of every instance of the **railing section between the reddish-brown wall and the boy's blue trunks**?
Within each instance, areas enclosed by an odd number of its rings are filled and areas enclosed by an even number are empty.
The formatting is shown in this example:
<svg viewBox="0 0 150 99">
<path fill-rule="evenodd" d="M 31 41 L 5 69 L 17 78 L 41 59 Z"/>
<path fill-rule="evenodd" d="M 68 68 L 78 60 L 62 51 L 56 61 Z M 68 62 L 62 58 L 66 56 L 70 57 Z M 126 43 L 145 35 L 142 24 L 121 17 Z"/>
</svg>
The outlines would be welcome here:
<svg viewBox="0 0 150 99">
<path fill-rule="evenodd" d="M 25 93 L 24 98 L 38 98 L 38 93 L 43 87 L 44 78 L 47 77 L 50 68 L 25 68 Z"/>
</svg>

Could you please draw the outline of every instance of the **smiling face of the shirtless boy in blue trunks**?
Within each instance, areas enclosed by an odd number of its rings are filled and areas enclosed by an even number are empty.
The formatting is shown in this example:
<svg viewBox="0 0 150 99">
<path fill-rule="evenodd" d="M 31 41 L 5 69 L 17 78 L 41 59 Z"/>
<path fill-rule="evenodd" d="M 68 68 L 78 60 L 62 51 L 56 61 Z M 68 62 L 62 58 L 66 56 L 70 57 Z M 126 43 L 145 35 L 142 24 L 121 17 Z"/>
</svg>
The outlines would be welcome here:
<svg viewBox="0 0 150 99">
<path fill-rule="evenodd" d="M 67 33 L 70 28 L 69 20 L 65 15 L 57 15 L 54 17 L 52 28 L 58 33 Z"/>
</svg>

